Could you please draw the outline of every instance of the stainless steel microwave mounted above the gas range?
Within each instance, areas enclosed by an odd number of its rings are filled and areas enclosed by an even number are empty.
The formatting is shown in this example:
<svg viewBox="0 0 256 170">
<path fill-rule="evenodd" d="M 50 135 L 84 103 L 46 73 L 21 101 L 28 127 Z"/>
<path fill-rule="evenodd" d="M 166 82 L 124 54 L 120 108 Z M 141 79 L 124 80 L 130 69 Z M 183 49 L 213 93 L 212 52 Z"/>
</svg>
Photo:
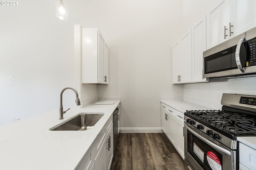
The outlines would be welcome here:
<svg viewBox="0 0 256 170">
<path fill-rule="evenodd" d="M 256 28 L 203 52 L 203 78 L 256 76 Z"/>
</svg>

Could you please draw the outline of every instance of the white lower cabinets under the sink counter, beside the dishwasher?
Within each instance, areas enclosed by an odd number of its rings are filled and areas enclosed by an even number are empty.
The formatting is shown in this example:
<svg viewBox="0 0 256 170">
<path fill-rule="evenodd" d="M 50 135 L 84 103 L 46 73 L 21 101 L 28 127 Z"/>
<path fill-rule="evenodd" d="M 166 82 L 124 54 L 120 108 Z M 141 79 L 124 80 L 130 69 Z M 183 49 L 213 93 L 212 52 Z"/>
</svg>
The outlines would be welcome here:
<svg viewBox="0 0 256 170">
<path fill-rule="evenodd" d="M 112 160 L 113 121 L 111 116 L 75 170 L 110 170 Z"/>
</svg>

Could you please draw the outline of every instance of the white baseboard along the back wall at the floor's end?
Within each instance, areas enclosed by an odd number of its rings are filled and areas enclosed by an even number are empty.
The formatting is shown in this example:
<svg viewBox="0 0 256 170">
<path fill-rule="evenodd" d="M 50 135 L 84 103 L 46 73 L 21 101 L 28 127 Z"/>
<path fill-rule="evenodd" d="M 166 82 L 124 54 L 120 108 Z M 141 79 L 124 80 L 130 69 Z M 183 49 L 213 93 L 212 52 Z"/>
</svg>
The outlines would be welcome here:
<svg viewBox="0 0 256 170">
<path fill-rule="evenodd" d="M 120 127 L 120 133 L 164 133 L 161 127 Z"/>
</svg>

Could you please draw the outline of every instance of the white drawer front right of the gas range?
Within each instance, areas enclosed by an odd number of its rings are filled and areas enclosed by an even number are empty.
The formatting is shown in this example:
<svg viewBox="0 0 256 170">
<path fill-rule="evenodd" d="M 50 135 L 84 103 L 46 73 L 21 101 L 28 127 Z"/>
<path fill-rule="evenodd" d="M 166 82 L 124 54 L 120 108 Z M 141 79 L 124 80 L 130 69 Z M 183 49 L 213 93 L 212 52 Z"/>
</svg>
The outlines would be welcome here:
<svg viewBox="0 0 256 170">
<path fill-rule="evenodd" d="M 251 170 L 256 169 L 256 150 L 239 143 L 239 162 Z"/>
</svg>

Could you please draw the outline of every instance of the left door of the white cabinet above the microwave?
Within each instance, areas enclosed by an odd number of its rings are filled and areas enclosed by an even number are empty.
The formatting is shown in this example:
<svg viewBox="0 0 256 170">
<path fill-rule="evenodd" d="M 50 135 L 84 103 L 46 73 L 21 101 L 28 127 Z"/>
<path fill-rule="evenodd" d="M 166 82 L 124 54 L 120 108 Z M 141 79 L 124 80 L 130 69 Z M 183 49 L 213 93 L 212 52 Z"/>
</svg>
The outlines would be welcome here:
<svg viewBox="0 0 256 170">
<path fill-rule="evenodd" d="M 206 14 L 207 49 L 230 39 L 229 23 L 230 0 L 222 0 L 216 8 Z"/>
</svg>

